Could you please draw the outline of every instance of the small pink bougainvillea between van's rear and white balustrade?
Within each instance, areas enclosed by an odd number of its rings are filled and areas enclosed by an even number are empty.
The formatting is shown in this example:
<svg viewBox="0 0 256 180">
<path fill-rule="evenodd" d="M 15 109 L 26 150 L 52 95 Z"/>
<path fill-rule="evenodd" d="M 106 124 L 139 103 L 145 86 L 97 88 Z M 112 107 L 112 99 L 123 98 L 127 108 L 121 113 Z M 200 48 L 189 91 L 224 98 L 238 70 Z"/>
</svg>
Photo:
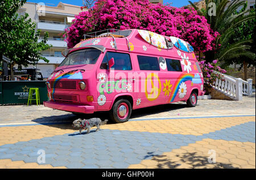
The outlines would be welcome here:
<svg viewBox="0 0 256 180">
<path fill-rule="evenodd" d="M 226 70 L 218 66 L 219 63 L 217 59 L 213 60 L 212 63 L 205 63 L 205 61 L 200 61 L 199 64 L 204 76 L 204 91 L 209 93 L 209 90 L 212 88 L 210 85 L 213 85 L 213 83 L 216 82 L 216 79 L 222 80 L 221 73 L 226 73 Z"/>
</svg>

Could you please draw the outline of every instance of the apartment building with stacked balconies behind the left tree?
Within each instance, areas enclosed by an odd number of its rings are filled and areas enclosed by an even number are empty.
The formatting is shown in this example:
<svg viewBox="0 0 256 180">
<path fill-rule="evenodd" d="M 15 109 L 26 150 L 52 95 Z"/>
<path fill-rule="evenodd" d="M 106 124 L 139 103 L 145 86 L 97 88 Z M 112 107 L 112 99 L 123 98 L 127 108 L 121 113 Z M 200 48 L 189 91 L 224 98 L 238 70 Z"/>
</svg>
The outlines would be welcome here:
<svg viewBox="0 0 256 180">
<path fill-rule="evenodd" d="M 64 57 L 61 55 L 61 51 L 67 49 L 67 42 L 64 41 L 62 34 L 64 29 L 71 26 L 72 20 L 79 12 L 81 12 L 80 6 L 62 2 L 59 2 L 57 6 L 27 2 L 19 8 L 19 15 L 27 13 L 32 22 L 36 23 L 36 29 L 41 30 L 41 37 L 44 36 L 45 32 L 49 33 L 47 44 L 51 44 L 52 48 L 43 52 L 43 57 L 46 57 L 49 63 L 43 60 L 36 63 L 36 68 L 42 71 L 43 78 L 48 78 L 51 72 L 63 61 Z M 41 40 L 39 39 L 39 41 Z M 33 67 L 31 65 L 28 68 Z"/>
</svg>

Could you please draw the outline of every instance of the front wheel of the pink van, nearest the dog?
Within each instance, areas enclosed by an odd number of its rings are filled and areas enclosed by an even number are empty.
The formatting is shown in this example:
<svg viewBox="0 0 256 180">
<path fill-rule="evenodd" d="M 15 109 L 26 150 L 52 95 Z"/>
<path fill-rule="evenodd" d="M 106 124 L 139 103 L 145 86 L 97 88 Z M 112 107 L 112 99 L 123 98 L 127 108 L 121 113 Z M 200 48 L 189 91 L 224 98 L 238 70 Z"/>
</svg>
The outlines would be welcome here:
<svg viewBox="0 0 256 180">
<path fill-rule="evenodd" d="M 116 123 L 126 122 L 131 116 L 131 104 L 128 100 L 121 99 L 114 103 L 110 110 L 110 118 Z"/>
</svg>

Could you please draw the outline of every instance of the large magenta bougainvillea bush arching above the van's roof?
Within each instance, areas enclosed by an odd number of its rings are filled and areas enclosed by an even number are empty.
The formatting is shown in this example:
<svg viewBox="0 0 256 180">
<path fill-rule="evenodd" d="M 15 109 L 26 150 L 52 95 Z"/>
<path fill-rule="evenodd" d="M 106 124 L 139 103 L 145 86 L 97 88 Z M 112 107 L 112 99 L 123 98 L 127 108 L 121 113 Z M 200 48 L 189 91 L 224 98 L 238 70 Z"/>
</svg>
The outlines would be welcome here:
<svg viewBox="0 0 256 180">
<path fill-rule="evenodd" d="M 144 29 L 176 36 L 188 41 L 197 52 L 214 49 L 218 36 L 195 9 L 152 4 L 148 0 L 98 0 L 93 8 L 75 16 L 64 36 L 68 48 L 72 48 L 85 33 L 109 28 Z"/>
</svg>

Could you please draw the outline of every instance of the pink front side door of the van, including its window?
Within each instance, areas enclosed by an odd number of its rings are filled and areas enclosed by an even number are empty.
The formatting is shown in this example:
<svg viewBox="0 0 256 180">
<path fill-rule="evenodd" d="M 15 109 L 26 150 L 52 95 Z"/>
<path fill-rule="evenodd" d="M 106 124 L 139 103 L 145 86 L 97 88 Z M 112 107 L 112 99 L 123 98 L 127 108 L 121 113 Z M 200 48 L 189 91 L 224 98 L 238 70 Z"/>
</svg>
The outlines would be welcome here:
<svg viewBox="0 0 256 180">
<path fill-rule="evenodd" d="M 111 58 L 114 58 L 114 65 L 109 70 L 108 62 Z M 106 52 L 96 74 L 98 110 L 110 110 L 118 94 L 135 96 L 135 79 L 131 77 L 131 74 L 133 74 L 133 66 L 130 54 Z"/>
</svg>

